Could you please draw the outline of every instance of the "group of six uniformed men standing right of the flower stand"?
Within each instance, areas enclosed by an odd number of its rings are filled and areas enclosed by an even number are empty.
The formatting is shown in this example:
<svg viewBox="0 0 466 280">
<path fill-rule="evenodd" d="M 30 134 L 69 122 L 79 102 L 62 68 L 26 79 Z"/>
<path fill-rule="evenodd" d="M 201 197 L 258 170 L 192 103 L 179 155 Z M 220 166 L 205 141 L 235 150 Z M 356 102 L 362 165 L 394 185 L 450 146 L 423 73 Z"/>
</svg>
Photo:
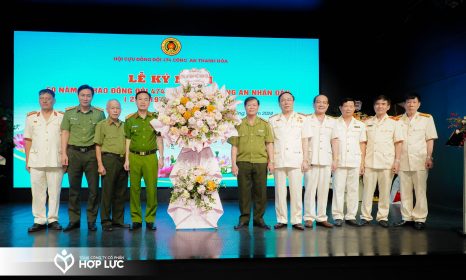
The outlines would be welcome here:
<svg viewBox="0 0 466 280">
<path fill-rule="evenodd" d="M 376 220 L 380 226 L 389 227 L 390 190 L 395 174 L 400 176 L 402 205 L 402 220 L 395 226 L 423 229 L 427 218 L 427 175 L 433 167 L 437 132 L 432 116 L 418 112 L 420 101 L 417 94 L 406 96 L 406 112 L 390 117 L 387 112 L 391 101 L 380 95 L 374 101 L 375 116 L 360 121 L 354 117 L 354 99 L 342 100 L 341 117 L 334 118 L 326 115 L 327 96 L 316 96 L 314 114 L 304 115 L 294 112 L 295 97 L 291 92 L 283 92 L 278 97 L 282 112 L 267 122 L 257 117 L 259 100 L 247 98 L 246 117 L 237 126 L 238 136 L 229 139 L 232 173 L 238 176 L 239 188 L 240 218 L 234 228 L 249 226 L 253 208 L 253 225 L 270 229 L 263 219 L 270 172 L 275 179 L 275 229 L 288 225 L 287 185 L 293 229 L 313 228 L 314 221 L 325 228 L 342 226 L 343 222 L 352 226 L 370 224 L 377 186 L 380 198 Z M 364 187 L 358 222 L 360 176 Z M 327 216 L 332 177 L 333 224 Z"/>
</svg>

